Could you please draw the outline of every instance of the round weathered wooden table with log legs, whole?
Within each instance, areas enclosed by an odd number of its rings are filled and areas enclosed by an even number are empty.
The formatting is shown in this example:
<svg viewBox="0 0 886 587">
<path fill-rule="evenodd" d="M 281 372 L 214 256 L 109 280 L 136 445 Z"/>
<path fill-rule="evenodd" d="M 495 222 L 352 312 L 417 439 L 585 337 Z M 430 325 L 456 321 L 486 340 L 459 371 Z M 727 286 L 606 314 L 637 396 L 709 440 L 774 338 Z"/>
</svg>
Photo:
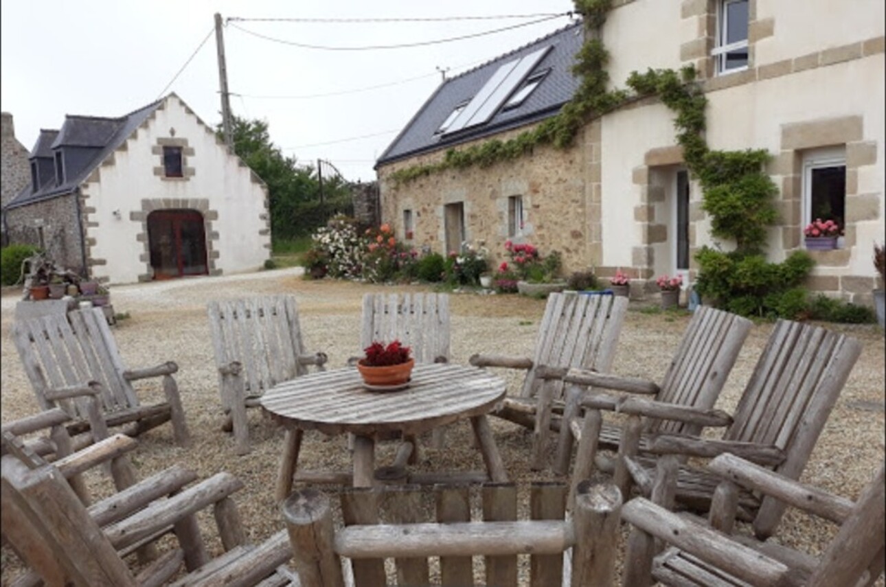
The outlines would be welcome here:
<svg viewBox="0 0 886 587">
<path fill-rule="evenodd" d="M 277 498 L 292 488 L 305 430 L 354 434 L 355 487 L 369 487 L 375 473 L 375 440 L 401 432 L 414 437 L 462 418 L 470 418 L 489 478 L 507 481 L 501 455 L 486 420 L 504 398 L 506 383 L 478 367 L 419 364 L 404 390 L 370 391 L 355 367 L 301 375 L 278 383 L 261 406 L 286 427 Z M 415 441 L 413 440 L 413 443 Z"/>
</svg>

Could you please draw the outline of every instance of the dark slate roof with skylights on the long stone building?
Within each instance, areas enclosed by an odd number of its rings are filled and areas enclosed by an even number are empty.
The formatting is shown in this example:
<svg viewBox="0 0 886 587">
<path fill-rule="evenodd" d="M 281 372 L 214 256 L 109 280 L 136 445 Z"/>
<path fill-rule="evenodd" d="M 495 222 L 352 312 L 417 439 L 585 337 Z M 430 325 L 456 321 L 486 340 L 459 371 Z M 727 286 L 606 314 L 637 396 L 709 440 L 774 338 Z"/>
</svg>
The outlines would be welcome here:
<svg viewBox="0 0 886 587">
<path fill-rule="evenodd" d="M 556 115 L 579 87 L 579 79 L 572 75 L 571 66 L 575 63 L 575 54 L 584 42 L 583 31 L 580 21 L 573 23 L 444 81 L 378 158 L 376 167 L 425 152 L 448 149 L 484 136 L 497 135 L 510 128 Z M 527 73 L 526 78 L 548 68 L 550 72 L 523 104 L 509 110 L 500 109 L 485 124 L 451 135 L 434 134 L 455 107 L 474 97 L 502 64 L 548 45 L 552 46 L 551 50 Z M 517 89 L 520 87 L 517 85 Z"/>
</svg>

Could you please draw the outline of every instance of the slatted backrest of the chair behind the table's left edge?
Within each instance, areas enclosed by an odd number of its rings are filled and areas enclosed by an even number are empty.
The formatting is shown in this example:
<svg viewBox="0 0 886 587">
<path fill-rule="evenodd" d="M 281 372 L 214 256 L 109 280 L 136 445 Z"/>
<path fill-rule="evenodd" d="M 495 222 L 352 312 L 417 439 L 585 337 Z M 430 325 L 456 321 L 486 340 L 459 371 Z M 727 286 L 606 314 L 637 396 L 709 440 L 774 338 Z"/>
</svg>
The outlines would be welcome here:
<svg viewBox="0 0 886 587">
<path fill-rule="evenodd" d="M 298 360 L 305 348 L 295 297 L 211 301 L 207 310 L 215 363 L 225 367 L 238 361 L 249 395 L 259 396 L 305 372 Z"/>
</svg>

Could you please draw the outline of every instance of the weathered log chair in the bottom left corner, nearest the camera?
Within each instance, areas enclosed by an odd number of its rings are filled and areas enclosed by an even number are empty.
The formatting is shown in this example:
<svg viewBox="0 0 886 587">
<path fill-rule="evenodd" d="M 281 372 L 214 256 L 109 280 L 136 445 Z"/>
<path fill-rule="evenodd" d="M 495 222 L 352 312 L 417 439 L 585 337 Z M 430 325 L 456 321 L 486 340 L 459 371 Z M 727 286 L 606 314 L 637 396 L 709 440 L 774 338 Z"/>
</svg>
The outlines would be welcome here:
<svg viewBox="0 0 886 587">
<path fill-rule="evenodd" d="M 9 432 L 4 444 L 16 444 Z M 19 585 L 125 587 L 127 585 L 298 585 L 285 565 L 291 550 L 285 530 L 261 545 L 245 540 L 231 495 L 243 483 L 219 473 L 197 478 L 180 466 L 167 468 L 87 507 L 66 483 L 73 475 L 132 450 L 136 441 L 117 434 L 53 464 L 24 444 L 4 454 L 2 529 L 4 541 L 31 569 Z M 23 450 L 24 449 L 24 450 Z M 212 509 L 223 553 L 211 558 L 198 514 Z M 171 548 L 137 573 L 127 562 L 162 537 Z M 157 546 L 159 548 L 159 546 Z M 184 565 L 185 573 L 181 571 Z"/>
</svg>

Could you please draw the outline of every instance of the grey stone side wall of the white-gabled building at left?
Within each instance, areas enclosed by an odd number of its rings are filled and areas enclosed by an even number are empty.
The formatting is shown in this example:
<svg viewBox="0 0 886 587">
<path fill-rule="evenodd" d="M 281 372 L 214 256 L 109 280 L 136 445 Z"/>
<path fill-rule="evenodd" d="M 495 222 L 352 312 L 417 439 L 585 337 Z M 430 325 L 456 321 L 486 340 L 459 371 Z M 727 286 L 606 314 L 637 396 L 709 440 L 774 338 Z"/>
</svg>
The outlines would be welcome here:
<svg viewBox="0 0 886 587">
<path fill-rule="evenodd" d="M 72 194 L 6 211 L 11 243 L 41 247 L 59 266 L 84 274 L 77 218 Z"/>
</svg>

